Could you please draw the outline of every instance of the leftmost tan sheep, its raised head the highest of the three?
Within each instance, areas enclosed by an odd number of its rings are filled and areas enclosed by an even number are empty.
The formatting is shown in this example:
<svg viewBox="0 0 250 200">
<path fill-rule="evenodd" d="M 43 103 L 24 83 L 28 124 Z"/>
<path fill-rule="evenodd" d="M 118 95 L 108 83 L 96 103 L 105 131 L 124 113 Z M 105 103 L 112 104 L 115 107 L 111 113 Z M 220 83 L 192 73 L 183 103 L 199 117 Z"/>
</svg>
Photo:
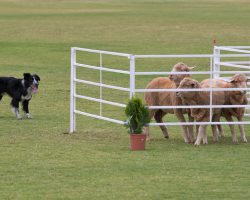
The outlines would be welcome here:
<svg viewBox="0 0 250 200">
<path fill-rule="evenodd" d="M 173 72 L 189 72 L 194 67 L 189 67 L 184 63 L 177 63 L 173 67 Z M 179 86 L 180 81 L 185 78 L 190 77 L 189 74 L 171 74 L 169 77 L 158 77 L 153 79 L 148 83 L 146 89 L 174 89 Z M 182 105 L 181 98 L 176 97 L 175 92 L 146 92 L 144 95 L 144 100 L 147 106 L 175 106 Z M 187 109 L 151 109 L 149 112 L 149 117 L 155 118 L 157 123 L 162 123 L 162 118 L 167 114 L 175 114 L 180 122 L 185 122 L 184 113 L 188 113 L 189 121 L 193 122 L 194 119 L 191 117 L 190 112 Z M 166 126 L 160 126 L 163 136 L 169 138 L 168 130 Z M 194 142 L 193 127 L 192 126 L 182 126 L 183 138 L 186 143 Z M 147 140 L 149 137 L 149 127 L 145 127 L 145 133 L 147 135 Z"/>
</svg>

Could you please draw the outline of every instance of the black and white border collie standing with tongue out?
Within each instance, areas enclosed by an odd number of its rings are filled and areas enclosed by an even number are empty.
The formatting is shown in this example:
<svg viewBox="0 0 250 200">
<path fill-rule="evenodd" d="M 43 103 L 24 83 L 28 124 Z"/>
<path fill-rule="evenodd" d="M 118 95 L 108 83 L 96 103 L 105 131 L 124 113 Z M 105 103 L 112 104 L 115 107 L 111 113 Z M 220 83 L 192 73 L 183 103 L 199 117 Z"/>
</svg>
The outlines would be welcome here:
<svg viewBox="0 0 250 200">
<path fill-rule="evenodd" d="M 11 106 L 17 119 L 22 119 L 19 114 L 19 103 L 22 102 L 23 111 L 27 118 L 31 118 L 29 113 L 29 101 L 32 95 L 38 91 L 40 77 L 36 74 L 24 73 L 23 79 L 14 77 L 0 77 L 0 100 L 4 94 L 8 94 Z"/>
</svg>

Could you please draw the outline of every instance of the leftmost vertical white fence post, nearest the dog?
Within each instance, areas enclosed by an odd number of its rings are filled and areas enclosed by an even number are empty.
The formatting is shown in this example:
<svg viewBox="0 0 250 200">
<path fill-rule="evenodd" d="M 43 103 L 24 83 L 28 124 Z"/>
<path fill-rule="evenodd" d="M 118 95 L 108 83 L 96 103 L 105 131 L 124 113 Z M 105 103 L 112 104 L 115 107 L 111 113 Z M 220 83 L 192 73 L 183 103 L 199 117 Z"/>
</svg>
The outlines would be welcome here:
<svg viewBox="0 0 250 200">
<path fill-rule="evenodd" d="M 75 83 L 75 69 L 76 63 L 76 49 L 74 47 L 71 48 L 71 79 L 70 79 L 70 130 L 69 133 L 74 133 L 76 131 L 76 100 L 75 100 L 75 93 L 76 93 L 76 83 Z"/>
</svg>

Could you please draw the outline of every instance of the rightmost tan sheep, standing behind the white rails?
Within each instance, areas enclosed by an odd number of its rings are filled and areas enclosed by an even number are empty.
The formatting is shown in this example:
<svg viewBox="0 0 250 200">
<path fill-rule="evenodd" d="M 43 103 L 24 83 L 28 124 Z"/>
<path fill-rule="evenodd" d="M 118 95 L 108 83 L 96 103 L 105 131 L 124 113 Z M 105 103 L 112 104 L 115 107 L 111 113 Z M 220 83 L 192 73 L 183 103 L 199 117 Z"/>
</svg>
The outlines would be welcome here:
<svg viewBox="0 0 250 200">
<path fill-rule="evenodd" d="M 215 81 L 215 80 L 214 80 Z M 234 75 L 229 82 L 225 80 L 218 79 L 215 82 L 217 88 L 247 88 L 247 82 L 249 79 L 244 74 Z M 209 87 L 209 79 L 206 79 L 201 82 L 202 87 Z M 225 91 L 226 101 L 225 105 L 247 105 L 247 96 L 246 91 Z M 238 119 L 239 122 L 242 122 L 244 116 L 245 108 L 223 108 L 222 116 L 226 118 L 227 121 L 232 122 L 233 116 Z M 232 142 L 237 143 L 237 136 L 234 130 L 234 125 L 229 125 L 232 135 Z M 221 125 L 218 125 L 219 133 L 223 136 L 221 132 Z M 247 142 L 244 125 L 239 124 L 241 141 Z"/>
</svg>

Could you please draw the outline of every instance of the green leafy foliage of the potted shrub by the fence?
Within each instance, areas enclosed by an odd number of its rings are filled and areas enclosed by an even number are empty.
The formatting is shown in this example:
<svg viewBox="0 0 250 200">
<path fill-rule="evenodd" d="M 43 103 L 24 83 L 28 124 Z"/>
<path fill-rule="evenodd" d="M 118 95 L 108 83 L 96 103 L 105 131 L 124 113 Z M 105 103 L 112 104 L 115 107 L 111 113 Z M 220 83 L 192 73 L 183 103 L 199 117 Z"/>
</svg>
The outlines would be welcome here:
<svg viewBox="0 0 250 200">
<path fill-rule="evenodd" d="M 129 133 L 142 133 L 143 126 L 150 121 L 148 108 L 142 104 L 141 99 L 136 97 L 129 100 L 125 114 L 127 116 L 125 126 L 128 128 Z"/>
</svg>

